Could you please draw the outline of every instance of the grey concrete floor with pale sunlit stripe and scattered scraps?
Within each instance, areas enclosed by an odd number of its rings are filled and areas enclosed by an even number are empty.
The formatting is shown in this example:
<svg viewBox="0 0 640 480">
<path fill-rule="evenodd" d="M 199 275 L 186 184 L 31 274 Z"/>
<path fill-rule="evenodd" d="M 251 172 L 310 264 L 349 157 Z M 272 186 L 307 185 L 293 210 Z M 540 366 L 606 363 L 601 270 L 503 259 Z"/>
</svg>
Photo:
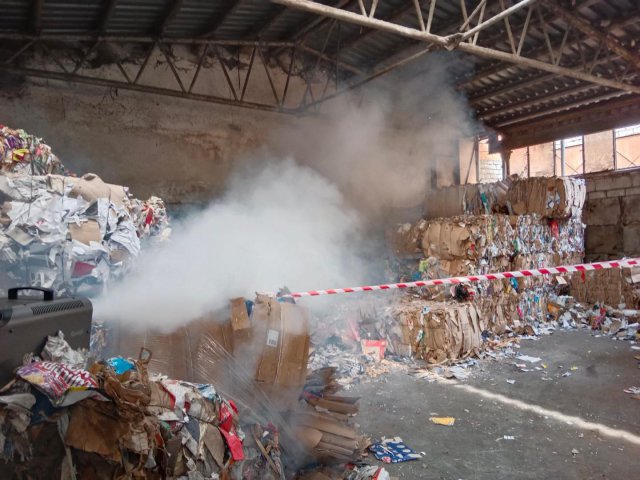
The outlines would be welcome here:
<svg viewBox="0 0 640 480">
<path fill-rule="evenodd" d="M 468 380 L 428 383 L 397 372 L 357 385 L 349 395 L 362 397 L 356 421 L 372 440 L 401 436 L 426 453 L 389 465 L 392 476 L 636 479 L 640 401 L 623 389 L 640 386 L 633 358 L 640 352 L 630 347 L 587 331 L 558 331 L 521 342 L 522 354 L 542 357 L 544 371 L 520 372 L 512 359 L 482 361 Z M 562 377 L 566 371 L 571 376 Z M 453 416 L 455 425 L 432 424 L 432 414 Z"/>
</svg>

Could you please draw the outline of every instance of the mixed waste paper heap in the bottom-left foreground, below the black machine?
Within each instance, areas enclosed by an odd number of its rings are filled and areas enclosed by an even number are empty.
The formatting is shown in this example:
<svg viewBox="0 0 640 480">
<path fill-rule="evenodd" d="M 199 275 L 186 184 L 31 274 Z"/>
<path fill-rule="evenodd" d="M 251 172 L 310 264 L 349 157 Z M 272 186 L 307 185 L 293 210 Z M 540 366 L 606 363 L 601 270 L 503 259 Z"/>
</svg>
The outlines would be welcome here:
<svg viewBox="0 0 640 480">
<path fill-rule="evenodd" d="M 41 358 L 19 367 L 0 395 L 3 476 L 220 478 L 224 472 L 242 479 L 271 464 L 283 471 L 273 425 L 243 430 L 232 400 L 212 385 L 149 375 L 149 354 L 92 361 L 60 335 L 49 337 Z"/>
</svg>

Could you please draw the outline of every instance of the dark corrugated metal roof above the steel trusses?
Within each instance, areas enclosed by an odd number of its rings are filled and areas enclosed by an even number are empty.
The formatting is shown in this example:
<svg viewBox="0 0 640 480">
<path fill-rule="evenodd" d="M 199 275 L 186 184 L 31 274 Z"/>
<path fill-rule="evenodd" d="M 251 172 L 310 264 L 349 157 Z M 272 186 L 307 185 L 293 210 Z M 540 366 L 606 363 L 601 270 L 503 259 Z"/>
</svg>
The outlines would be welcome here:
<svg viewBox="0 0 640 480">
<path fill-rule="evenodd" d="M 359 10 L 357 0 L 321 0 L 321 3 Z M 426 0 L 421 2 L 425 21 L 429 3 Z M 616 38 L 640 57 L 640 5 L 637 0 L 582 0 L 573 3 L 576 16 Z M 425 44 L 388 32 L 322 19 L 311 13 L 286 9 L 268 0 L 42 0 L 39 13 L 37 5 L 38 2 L 33 0 L 3 0 L 0 34 L 96 34 L 102 29 L 103 35 L 107 36 L 304 41 L 305 45 L 324 51 L 327 57 L 337 57 L 343 65 L 351 66 L 339 69 L 343 79 L 354 71 L 367 72 L 386 67 L 426 48 Z M 465 0 L 465 5 L 467 13 L 471 13 L 477 1 Z M 488 2 L 485 18 L 498 6 L 497 1 Z M 549 61 L 547 36 L 555 47 L 559 46 L 568 24 L 550 11 L 544 8 L 542 11 L 546 32 L 536 10 L 523 41 L 522 52 L 529 58 Z M 516 43 L 520 40 L 527 15 L 528 10 L 521 9 L 509 17 Z M 375 18 L 418 27 L 414 0 L 380 0 Z M 439 35 L 454 33 L 461 18 L 460 2 L 440 0 L 433 17 L 432 32 Z M 576 35 L 575 28 L 573 30 L 566 39 L 562 65 L 578 68 L 586 58 L 587 64 L 593 63 L 593 74 L 608 78 L 622 74 L 625 66 L 628 67 L 619 56 L 610 53 L 599 56 L 601 41 Z M 505 23 L 500 21 L 484 30 L 478 44 L 509 51 Z M 457 69 L 455 75 L 459 77 L 458 88 L 471 99 L 478 114 L 482 116 L 487 112 L 504 110 L 504 113 L 490 117 L 490 124 L 517 122 L 518 118 L 527 118 L 537 110 L 571 105 L 589 95 L 597 97 L 613 91 L 607 87 L 581 89 L 584 82 L 567 81 L 529 67 L 480 57 L 461 55 L 457 62 L 458 66 L 454 68 Z M 626 75 L 630 73 L 639 74 L 627 68 Z M 628 78 L 638 83 L 638 76 Z M 577 88 L 575 92 L 571 90 L 572 85 Z M 566 95 L 562 95 L 565 90 Z M 495 95 L 492 92 L 496 92 Z M 530 105 L 530 100 L 536 96 L 541 98 L 539 105 Z M 524 106 L 518 107 L 519 103 Z"/>
</svg>

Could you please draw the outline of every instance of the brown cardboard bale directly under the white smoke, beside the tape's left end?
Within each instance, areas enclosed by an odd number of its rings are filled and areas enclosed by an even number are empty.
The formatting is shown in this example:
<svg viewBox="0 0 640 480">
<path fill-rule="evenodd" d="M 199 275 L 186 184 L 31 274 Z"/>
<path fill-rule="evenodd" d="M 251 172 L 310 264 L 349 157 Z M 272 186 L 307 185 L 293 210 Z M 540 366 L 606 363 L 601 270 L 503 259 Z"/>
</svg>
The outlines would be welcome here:
<svg viewBox="0 0 640 480">
<path fill-rule="evenodd" d="M 208 339 L 235 362 L 220 351 L 207 350 Z M 111 354 L 135 358 L 141 347 L 152 351 L 150 372 L 219 384 L 228 391 L 238 386 L 230 384 L 233 375 L 227 370 L 242 368 L 276 408 L 286 411 L 298 402 L 307 377 L 309 319 L 304 308 L 264 296 L 258 297 L 249 317 L 244 299 L 236 298 L 231 300 L 230 316 L 210 313 L 171 334 L 123 332 Z"/>
</svg>

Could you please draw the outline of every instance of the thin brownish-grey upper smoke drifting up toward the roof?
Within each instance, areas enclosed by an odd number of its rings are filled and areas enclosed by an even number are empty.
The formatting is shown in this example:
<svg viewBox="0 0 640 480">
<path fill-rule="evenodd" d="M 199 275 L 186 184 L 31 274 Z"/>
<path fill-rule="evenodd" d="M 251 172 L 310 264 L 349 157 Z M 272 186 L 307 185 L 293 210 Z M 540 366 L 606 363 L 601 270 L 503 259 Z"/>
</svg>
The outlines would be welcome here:
<svg viewBox="0 0 640 480">
<path fill-rule="evenodd" d="M 376 221 L 415 207 L 436 176 L 454 181 L 458 140 L 472 131 L 466 101 L 453 88 L 453 60 L 432 54 L 340 96 L 319 118 L 274 132 L 274 147 L 331 179 Z"/>
</svg>

